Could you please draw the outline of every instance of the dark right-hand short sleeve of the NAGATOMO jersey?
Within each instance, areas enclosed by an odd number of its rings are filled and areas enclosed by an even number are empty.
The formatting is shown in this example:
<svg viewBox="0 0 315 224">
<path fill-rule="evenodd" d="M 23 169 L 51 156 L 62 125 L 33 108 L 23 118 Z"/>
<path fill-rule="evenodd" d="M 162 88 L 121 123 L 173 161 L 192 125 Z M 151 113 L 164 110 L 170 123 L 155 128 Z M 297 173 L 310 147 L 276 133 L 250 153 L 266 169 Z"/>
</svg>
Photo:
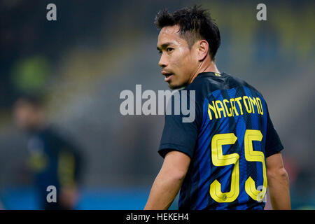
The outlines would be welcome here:
<svg viewBox="0 0 315 224">
<path fill-rule="evenodd" d="M 280 138 L 276 130 L 274 129 L 274 125 L 272 124 L 272 120 L 270 119 L 269 112 L 267 113 L 267 134 L 266 134 L 266 146 L 265 146 L 265 154 L 266 158 L 270 155 L 274 155 L 279 153 L 283 149 Z"/>
</svg>

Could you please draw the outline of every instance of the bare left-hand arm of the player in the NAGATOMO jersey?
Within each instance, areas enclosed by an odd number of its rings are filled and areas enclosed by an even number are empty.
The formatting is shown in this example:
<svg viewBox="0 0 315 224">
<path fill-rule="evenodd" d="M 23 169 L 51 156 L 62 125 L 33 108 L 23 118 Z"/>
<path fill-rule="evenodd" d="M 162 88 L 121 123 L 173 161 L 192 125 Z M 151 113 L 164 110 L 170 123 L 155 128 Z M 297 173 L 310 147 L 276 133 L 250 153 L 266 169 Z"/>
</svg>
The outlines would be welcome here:
<svg viewBox="0 0 315 224">
<path fill-rule="evenodd" d="M 179 151 L 165 156 L 162 168 L 156 177 L 145 210 L 169 209 L 174 201 L 190 164 L 190 157 Z"/>
</svg>

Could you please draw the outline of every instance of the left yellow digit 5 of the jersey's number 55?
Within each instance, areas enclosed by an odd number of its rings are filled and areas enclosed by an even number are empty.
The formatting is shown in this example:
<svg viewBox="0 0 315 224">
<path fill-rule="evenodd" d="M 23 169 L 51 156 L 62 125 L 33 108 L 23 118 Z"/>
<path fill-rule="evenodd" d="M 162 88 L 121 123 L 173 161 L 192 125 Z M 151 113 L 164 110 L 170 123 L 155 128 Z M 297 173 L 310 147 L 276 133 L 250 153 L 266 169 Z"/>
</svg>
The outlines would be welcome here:
<svg viewBox="0 0 315 224">
<path fill-rule="evenodd" d="M 215 166 L 227 166 L 234 164 L 232 170 L 231 190 L 228 193 L 221 192 L 221 183 L 215 180 L 210 185 L 210 195 L 216 202 L 233 202 L 239 195 L 239 154 L 223 155 L 222 146 L 235 144 L 237 137 L 233 133 L 216 134 L 211 143 L 211 158 Z"/>
</svg>

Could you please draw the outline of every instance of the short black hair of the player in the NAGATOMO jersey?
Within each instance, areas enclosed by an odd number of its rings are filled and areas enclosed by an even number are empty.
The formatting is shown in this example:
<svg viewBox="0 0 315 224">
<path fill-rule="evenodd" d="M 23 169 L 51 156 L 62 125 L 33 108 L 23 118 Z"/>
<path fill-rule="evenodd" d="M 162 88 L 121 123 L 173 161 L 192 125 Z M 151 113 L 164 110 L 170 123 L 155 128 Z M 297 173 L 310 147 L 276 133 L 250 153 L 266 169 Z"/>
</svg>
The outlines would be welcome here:
<svg viewBox="0 0 315 224">
<path fill-rule="evenodd" d="M 198 40 L 206 40 L 209 43 L 209 55 L 215 59 L 221 44 L 220 31 L 210 13 L 201 6 L 182 8 L 174 13 L 169 13 L 167 9 L 160 10 L 154 24 L 159 29 L 179 25 L 179 34 L 187 41 L 189 48 Z"/>
</svg>

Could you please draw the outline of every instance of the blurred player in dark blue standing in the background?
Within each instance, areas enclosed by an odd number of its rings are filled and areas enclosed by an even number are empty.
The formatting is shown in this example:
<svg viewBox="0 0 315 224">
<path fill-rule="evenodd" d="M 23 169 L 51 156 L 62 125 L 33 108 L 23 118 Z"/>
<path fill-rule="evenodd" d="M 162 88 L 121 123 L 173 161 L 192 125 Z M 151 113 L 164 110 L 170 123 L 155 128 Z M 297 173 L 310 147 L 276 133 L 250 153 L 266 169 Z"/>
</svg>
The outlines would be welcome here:
<svg viewBox="0 0 315 224">
<path fill-rule="evenodd" d="M 78 177 L 81 167 L 76 146 L 60 137 L 46 123 L 41 99 L 22 96 L 14 106 L 14 118 L 29 134 L 29 167 L 41 209 L 74 209 L 78 200 Z M 57 202 L 47 202 L 47 187 L 57 188 Z"/>
</svg>

